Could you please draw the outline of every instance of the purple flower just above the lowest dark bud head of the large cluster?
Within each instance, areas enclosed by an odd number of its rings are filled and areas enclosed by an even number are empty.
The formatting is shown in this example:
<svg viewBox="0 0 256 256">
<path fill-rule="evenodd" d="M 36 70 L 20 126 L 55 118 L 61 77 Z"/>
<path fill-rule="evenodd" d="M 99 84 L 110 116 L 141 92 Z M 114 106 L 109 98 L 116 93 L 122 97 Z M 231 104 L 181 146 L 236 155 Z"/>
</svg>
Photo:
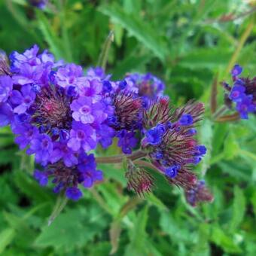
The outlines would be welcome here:
<svg viewBox="0 0 256 256">
<path fill-rule="evenodd" d="M 56 163 L 62 160 L 67 167 L 78 164 L 78 158 L 75 157 L 75 152 L 66 145 L 66 143 L 54 142 L 53 152 L 50 155 L 50 162 Z"/>
</svg>

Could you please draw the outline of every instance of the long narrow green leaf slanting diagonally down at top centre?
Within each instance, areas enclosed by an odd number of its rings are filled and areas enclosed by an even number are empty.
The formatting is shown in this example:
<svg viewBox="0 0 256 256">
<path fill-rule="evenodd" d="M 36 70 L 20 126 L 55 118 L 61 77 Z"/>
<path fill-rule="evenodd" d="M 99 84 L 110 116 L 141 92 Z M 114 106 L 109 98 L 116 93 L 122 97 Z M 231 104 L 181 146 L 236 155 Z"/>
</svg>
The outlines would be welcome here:
<svg viewBox="0 0 256 256">
<path fill-rule="evenodd" d="M 163 60 L 165 58 L 167 50 L 163 45 L 163 41 L 138 16 L 126 14 L 118 5 L 102 5 L 99 7 L 99 11 L 111 17 L 114 23 L 123 26 L 124 29 L 130 32 L 130 35 L 135 36 L 138 41 L 148 47 L 160 59 Z"/>
</svg>

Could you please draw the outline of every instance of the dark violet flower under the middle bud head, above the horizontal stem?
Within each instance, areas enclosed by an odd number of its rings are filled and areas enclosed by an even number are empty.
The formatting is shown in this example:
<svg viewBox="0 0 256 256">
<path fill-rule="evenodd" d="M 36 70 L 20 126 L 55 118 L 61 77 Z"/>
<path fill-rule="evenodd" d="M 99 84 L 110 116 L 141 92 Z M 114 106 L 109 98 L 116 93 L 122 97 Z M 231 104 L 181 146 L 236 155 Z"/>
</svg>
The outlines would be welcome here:
<svg viewBox="0 0 256 256">
<path fill-rule="evenodd" d="M 136 133 L 126 130 L 121 130 L 117 133 L 117 137 L 119 138 L 117 145 L 122 148 L 124 154 L 131 154 L 132 148 L 136 147 L 138 139 L 136 139 L 135 135 Z"/>
</svg>

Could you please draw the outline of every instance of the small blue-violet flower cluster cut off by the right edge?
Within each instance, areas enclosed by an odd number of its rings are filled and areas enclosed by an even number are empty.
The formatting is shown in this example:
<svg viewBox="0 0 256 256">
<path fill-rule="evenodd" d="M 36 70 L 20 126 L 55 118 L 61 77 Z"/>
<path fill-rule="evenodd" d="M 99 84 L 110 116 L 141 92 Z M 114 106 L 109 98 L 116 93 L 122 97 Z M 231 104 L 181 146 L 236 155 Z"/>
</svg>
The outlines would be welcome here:
<svg viewBox="0 0 256 256">
<path fill-rule="evenodd" d="M 234 102 L 240 117 L 248 119 L 248 113 L 256 112 L 256 78 L 243 78 L 241 74 L 242 67 L 236 64 L 231 71 L 233 86 L 224 83 L 228 91 L 225 102 L 228 106 Z"/>
</svg>

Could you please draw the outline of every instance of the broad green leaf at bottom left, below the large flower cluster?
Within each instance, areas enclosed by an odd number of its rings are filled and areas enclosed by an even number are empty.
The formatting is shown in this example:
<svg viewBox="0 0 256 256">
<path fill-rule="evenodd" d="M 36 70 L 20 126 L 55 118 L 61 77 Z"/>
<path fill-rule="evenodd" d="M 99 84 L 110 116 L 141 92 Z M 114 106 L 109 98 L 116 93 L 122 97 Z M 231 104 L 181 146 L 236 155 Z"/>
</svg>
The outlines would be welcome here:
<svg viewBox="0 0 256 256">
<path fill-rule="evenodd" d="M 69 209 L 59 215 L 50 227 L 43 227 L 35 246 L 72 251 L 86 245 L 96 233 L 102 232 L 107 223 L 105 214 L 98 206 Z"/>
</svg>

